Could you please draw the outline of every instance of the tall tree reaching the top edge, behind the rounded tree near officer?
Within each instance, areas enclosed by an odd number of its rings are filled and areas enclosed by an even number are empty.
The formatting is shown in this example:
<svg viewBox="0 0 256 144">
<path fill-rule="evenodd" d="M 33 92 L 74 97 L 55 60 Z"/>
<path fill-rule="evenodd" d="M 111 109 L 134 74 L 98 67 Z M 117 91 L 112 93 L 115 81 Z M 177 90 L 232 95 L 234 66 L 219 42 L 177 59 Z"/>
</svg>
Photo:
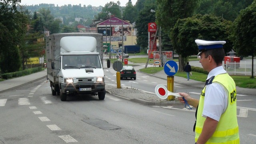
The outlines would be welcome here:
<svg viewBox="0 0 256 144">
<path fill-rule="evenodd" d="M 192 16 L 194 14 L 194 10 L 198 7 L 199 0 L 156 0 L 156 2 L 158 4 L 156 9 L 156 23 L 167 31 L 167 34 L 173 44 L 174 40 L 171 38 L 173 26 L 176 24 L 178 19 Z M 180 71 L 183 71 L 184 65 L 184 58 L 179 56 Z"/>
</svg>

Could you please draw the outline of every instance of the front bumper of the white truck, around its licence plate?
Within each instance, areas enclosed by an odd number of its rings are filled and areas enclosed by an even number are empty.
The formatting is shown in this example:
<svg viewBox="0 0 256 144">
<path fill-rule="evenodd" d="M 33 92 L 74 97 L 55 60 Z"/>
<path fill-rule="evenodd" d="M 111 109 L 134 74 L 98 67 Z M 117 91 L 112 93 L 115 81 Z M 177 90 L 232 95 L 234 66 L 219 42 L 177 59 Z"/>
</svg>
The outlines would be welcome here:
<svg viewBox="0 0 256 144">
<path fill-rule="evenodd" d="M 83 94 L 83 93 L 97 93 L 104 92 L 105 83 L 96 84 L 60 84 L 62 93 L 66 94 Z M 80 88 L 92 88 L 89 91 L 80 91 Z"/>
</svg>

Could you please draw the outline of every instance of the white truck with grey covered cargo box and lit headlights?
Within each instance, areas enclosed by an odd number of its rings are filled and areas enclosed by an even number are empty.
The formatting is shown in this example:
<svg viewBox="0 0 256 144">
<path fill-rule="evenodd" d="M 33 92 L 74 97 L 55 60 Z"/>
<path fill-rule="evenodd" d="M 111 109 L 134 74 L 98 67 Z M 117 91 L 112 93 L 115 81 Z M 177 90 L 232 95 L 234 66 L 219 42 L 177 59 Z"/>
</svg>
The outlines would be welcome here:
<svg viewBox="0 0 256 144">
<path fill-rule="evenodd" d="M 98 95 L 104 100 L 102 34 L 52 34 L 46 38 L 46 60 L 52 95 L 60 95 L 62 101 L 75 94 Z M 89 64 L 85 60 L 90 60 Z"/>
</svg>

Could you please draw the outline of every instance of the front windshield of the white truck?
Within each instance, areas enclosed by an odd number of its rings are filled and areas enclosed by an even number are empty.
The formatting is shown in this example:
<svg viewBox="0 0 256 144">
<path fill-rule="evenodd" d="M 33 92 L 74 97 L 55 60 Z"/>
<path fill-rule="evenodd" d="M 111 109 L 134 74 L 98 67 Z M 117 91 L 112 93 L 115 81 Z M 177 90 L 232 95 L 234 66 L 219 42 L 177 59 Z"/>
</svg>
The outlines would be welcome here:
<svg viewBox="0 0 256 144">
<path fill-rule="evenodd" d="M 62 56 L 63 69 L 102 68 L 98 55 L 69 55 Z"/>
</svg>

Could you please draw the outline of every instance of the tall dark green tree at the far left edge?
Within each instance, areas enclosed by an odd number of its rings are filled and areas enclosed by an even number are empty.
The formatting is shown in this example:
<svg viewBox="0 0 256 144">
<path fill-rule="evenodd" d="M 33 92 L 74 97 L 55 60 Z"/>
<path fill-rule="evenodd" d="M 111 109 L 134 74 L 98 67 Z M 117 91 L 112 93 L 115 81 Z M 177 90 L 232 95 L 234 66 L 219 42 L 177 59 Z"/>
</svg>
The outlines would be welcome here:
<svg viewBox="0 0 256 144">
<path fill-rule="evenodd" d="M 0 69 L 2 73 L 20 69 L 18 45 L 24 33 L 22 14 L 16 5 L 20 0 L 0 0 Z"/>
</svg>

